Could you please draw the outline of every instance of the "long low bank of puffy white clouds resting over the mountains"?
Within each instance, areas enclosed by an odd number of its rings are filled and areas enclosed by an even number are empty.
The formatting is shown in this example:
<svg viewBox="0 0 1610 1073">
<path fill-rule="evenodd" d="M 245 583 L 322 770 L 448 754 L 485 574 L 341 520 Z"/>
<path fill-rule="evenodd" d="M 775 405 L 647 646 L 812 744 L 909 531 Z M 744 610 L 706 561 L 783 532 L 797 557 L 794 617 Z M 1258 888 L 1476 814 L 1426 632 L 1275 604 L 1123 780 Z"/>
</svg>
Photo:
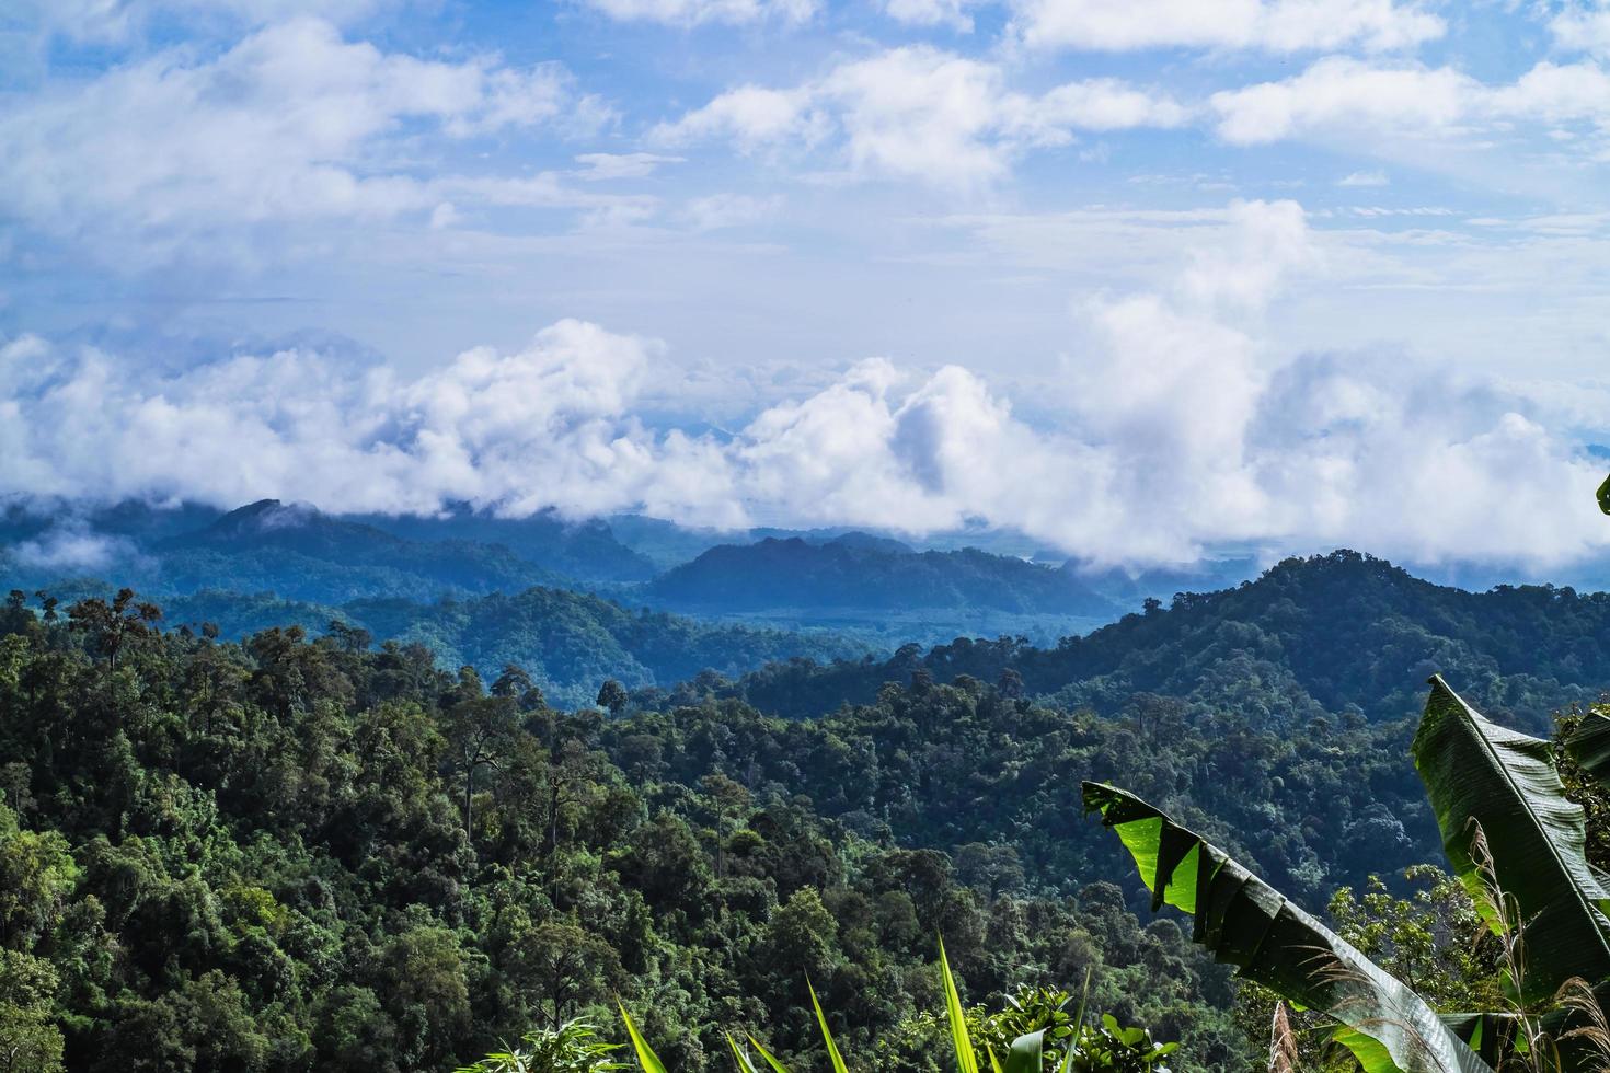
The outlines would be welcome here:
<svg viewBox="0 0 1610 1073">
<path fill-rule="evenodd" d="M 1032 420 L 972 370 L 869 359 L 694 434 L 639 417 L 679 376 L 662 344 L 576 320 L 415 378 L 306 347 L 159 373 L 24 336 L 0 346 L 0 491 L 721 528 L 982 518 L 1106 563 L 1225 542 L 1422 563 L 1604 550 L 1600 463 L 1557 401 L 1401 356 L 1272 352 L 1267 309 L 1325 259 L 1294 203 L 1224 217 L 1166 285 L 1077 307 L 1063 394 L 1040 391 Z"/>
</svg>

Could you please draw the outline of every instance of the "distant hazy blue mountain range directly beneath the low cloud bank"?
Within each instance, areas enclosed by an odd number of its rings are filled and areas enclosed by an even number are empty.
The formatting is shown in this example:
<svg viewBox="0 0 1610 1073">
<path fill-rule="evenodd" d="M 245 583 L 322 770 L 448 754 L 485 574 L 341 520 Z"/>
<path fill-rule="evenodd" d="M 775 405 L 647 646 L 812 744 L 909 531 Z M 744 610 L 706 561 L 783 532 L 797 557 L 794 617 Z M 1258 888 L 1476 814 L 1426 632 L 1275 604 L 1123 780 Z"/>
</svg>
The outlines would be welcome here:
<svg viewBox="0 0 1610 1073">
<path fill-rule="evenodd" d="M 354 600 L 427 605 L 543 586 L 760 629 L 832 631 L 890 650 L 956 635 L 1024 634 L 1050 643 L 1122 610 L 1077 571 L 976 549 L 919 553 L 852 531 L 707 550 L 712 534 L 641 518 L 615 524 L 649 534 L 660 552 L 697 558 L 660 574 L 658 563 L 621 544 L 604 521 L 497 518 L 465 505 L 386 516 L 330 515 L 279 500 L 227 513 L 11 504 L 0 516 L 0 587 L 105 594 L 105 579 L 118 578 L 169 602 L 206 592 L 217 603 L 219 594 L 237 592 L 259 605 L 280 598 L 333 608 Z M 1135 598 L 1127 595 L 1125 605 Z"/>
</svg>

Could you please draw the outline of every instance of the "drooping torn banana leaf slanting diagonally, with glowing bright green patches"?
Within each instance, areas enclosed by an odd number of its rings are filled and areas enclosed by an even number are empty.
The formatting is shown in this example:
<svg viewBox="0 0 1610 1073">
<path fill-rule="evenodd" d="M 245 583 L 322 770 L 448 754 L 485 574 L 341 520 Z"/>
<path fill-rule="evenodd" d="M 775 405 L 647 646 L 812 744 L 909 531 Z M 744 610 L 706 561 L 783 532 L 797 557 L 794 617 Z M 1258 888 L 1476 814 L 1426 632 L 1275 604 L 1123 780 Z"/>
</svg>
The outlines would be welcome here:
<svg viewBox="0 0 1610 1073">
<path fill-rule="evenodd" d="M 1191 914 L 1217 960 L 1341 1022 L 1367 1073 L 1492 1073 L 1425 999 L 1219 846 L 1116 787 L 1087 782 L 1084 801 L 1129 848 L 1154 911 Z"/>
</svg>

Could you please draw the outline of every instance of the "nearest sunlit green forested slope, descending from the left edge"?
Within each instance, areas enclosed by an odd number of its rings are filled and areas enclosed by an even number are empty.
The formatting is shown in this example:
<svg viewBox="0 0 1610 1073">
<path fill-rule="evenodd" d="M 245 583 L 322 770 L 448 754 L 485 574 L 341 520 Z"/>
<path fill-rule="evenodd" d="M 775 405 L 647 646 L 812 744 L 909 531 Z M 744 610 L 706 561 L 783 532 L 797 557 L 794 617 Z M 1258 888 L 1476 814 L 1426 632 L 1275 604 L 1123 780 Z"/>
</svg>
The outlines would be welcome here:
<svg viewBox="0 0 1610 1073">
<path fill-rule="evenodd" d="M 129 598 L 0 611 L 0 1034 L 26 1068 L 444 1073 L 617 994 L 673 1068 L 715 1068 L 745 1026 L 823 1068 L 808 975 L 840 1041 L 929 1073 L 939 931 L 979 1001 L 1088 968 L 1098 1009 L 1183 1039 L 1185 1068 L 1253 1052 L 1228 972 L 1138 925 L 1098 840 L 1064 898 L 1013 841 L 910 822 L 974 735 L 1154 751 L 1122 724 L 895 690 L 861 719 L 908 766 L 902 806 L 884 775 L 831 788 L 865 774 L 842 767 L 865 751 L 848 726 L 708 697 L 567 714 L 518 669 L 486 687 L 349 631 L 235 645 L 159 623 Z M 942 724 L 960 737 L 924 745 Z M 966 787 L 989 791 L 993 759 Z"/>
</svg>

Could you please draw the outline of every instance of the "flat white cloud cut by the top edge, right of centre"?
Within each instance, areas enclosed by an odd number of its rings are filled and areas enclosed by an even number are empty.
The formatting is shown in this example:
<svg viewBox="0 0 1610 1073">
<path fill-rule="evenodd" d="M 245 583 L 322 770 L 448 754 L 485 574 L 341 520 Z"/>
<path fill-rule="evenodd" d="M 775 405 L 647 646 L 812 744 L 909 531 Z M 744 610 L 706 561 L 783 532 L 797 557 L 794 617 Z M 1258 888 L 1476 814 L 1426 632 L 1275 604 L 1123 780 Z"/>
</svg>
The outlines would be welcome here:
<svg viewBox="0 0 1610 1073">
<path fill-rule="evenodd" d="M 1013 0 L 1011 34 L 1030 48 L 1410 48 L 1446 24 L 1394 0 Z"/>
</svg>

